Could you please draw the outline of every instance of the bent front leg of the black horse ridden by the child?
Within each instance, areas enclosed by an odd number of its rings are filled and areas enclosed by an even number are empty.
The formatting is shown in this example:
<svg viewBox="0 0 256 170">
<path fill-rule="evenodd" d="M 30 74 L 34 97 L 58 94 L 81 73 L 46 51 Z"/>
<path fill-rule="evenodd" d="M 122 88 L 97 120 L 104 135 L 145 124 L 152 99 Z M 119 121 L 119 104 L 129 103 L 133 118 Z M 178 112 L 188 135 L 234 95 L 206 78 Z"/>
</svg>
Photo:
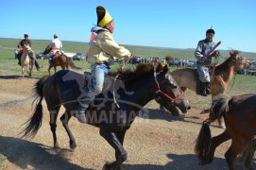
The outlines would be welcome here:
<svg viewBox="0 0 256 170">
<path fill-rule="evenodd" d="M 116 157 L 116 161 L 113 161 L 111 164 L 105 164 L 103 168 L 113 170 L 121 169 L 121 164 L 128 159 L 128 153 L 123 147 L 123 144 L 121 144 L 116 134 L 108 130 L 105 126 L 100 127 L 99 133 L 114 148 Z M 124 141 L 125 132 L 122 130 L 120 133 L 118 136 L 121 141 Z"/>
</svg>

